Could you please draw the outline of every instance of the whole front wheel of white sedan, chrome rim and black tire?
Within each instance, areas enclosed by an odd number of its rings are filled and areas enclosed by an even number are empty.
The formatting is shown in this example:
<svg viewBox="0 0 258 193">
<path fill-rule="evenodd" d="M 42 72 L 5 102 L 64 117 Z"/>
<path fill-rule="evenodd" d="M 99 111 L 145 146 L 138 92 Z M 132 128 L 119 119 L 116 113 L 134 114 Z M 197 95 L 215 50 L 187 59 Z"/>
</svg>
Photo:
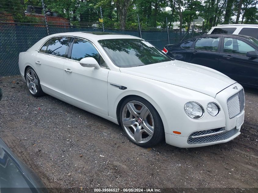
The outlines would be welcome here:
<svg viewBox="0 0 258 193">
<path fill-rule="evenodd" d="M 144 98 L 127 98 L 121 105 L 120 121 L 126 136 L 137 145 L 151 147 L 164 139 L 162 120 Z"/>
</svg>

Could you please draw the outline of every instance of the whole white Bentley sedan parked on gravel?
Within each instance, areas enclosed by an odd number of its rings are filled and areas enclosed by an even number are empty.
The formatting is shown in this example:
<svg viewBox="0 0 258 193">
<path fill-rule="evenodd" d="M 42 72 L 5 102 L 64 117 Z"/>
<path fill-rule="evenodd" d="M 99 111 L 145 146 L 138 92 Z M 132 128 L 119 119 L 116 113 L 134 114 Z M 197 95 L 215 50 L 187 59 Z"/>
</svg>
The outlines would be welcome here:
<svg viewBox="0 0 258 193">
<path fill-rule="evenodd" d="M 53 34 L 21 52 L 19 68 L 31 95 L 46 93 L 121 124 L 143 147 L 164 138 L 182 148 L 224 143 L 244 121 L 240 84 L 134 36 Z"/>
</svg>

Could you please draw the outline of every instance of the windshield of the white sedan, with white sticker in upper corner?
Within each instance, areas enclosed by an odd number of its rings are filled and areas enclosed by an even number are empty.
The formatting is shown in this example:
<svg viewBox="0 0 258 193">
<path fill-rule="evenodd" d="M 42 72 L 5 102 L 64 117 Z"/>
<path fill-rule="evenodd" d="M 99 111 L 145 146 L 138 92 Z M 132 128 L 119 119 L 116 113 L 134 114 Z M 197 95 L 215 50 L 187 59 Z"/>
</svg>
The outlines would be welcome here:
<svg viewBox="0 0 258 193">
<path fill-rule="evenodd" d="M 147 41 L 140 39 L 99 40 L 112 62 L 121 68 L 171 61 Z"/>
</svg>

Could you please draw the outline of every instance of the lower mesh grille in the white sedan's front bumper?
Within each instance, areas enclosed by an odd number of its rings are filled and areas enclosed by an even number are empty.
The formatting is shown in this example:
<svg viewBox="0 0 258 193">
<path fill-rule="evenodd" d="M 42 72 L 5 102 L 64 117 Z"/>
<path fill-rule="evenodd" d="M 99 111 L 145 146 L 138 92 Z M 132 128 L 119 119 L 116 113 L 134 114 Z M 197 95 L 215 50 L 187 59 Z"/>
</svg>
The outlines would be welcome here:
<svg viewBox="0 0 258 193">
<path fill-rule="evenodd" d="M 224 127 L 216 129 L 216 130 L 204 130 L 204 131 L 197 131 L 192 133 L 188 140 L 187 143 L 188 144 L 203 144 L 203 143 L 211 143 L 211 142 L 215 142 L 215 141 L 222 141 L 225 139 L 228 139 L 230 137 L 232 137 L 234 134 L 236 134 L 238 132 L 238 130 L 236 128 L 231 129 L 230 131 L 221 133 L 221 134 L 216 134 L 216 135 L 211 135 L 211 136 L 206 136 L 206 137 L 199 137 L 199 138 L 191 138 L 192 136 L 198 136 L 198 135 L 204 135 L 204 134 L 212 134 L 218 131 L 223 131 Z"/>
</svg>

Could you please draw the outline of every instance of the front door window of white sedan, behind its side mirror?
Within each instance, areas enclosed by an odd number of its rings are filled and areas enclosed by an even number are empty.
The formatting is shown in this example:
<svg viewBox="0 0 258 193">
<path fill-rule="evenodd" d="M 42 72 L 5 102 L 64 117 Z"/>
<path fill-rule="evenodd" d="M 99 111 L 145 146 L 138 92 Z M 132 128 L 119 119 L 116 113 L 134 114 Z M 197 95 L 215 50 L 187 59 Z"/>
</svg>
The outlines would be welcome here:
<svg viewBox="0 0 258 193">
<path fill-rule="evenodd" d="M 86 57 L 93 57 L 99 61 L 99 52 L 89 41 L 75 38 L 71 52 L 71 59 L 80 61 Z"/>
</svg>

